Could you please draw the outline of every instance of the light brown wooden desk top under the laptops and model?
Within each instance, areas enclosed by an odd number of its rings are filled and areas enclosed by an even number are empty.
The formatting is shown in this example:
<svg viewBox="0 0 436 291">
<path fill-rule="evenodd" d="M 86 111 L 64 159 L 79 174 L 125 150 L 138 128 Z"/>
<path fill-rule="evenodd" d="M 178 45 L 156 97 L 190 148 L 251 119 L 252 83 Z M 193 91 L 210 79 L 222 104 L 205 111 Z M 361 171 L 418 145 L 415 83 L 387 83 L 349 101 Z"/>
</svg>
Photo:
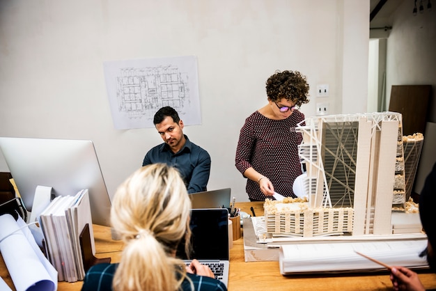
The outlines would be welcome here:
<svg viewBox="0 0 436 291">
<path fill-rule="evenodd" d="M 237 203 L 241 211 L 251 214 L 254 207 L 256 215 L 263 215 L 263 203 Z M 96 256 L 111 257 L 111 262 L 119 262 L 123 242 L 111 239 L 110 229 L 94 226 Z M 282 276 L 279 262 L 244 262 L 244 240 L 233 242 L 230 251 L 230 278 L 228 290 L 392 290 L 388 273 L 352 275 Z M 8 270 L 0 258 L 0 276 L 13 288 Z M 420 273 L 426 289 L 436 288 L 436 274 Z M 59 282 L 58 290 L 80 290 L 81 281 L 76 283 Z M 13 288 L 13 290 L 15 290 Z"/>
</svg>

